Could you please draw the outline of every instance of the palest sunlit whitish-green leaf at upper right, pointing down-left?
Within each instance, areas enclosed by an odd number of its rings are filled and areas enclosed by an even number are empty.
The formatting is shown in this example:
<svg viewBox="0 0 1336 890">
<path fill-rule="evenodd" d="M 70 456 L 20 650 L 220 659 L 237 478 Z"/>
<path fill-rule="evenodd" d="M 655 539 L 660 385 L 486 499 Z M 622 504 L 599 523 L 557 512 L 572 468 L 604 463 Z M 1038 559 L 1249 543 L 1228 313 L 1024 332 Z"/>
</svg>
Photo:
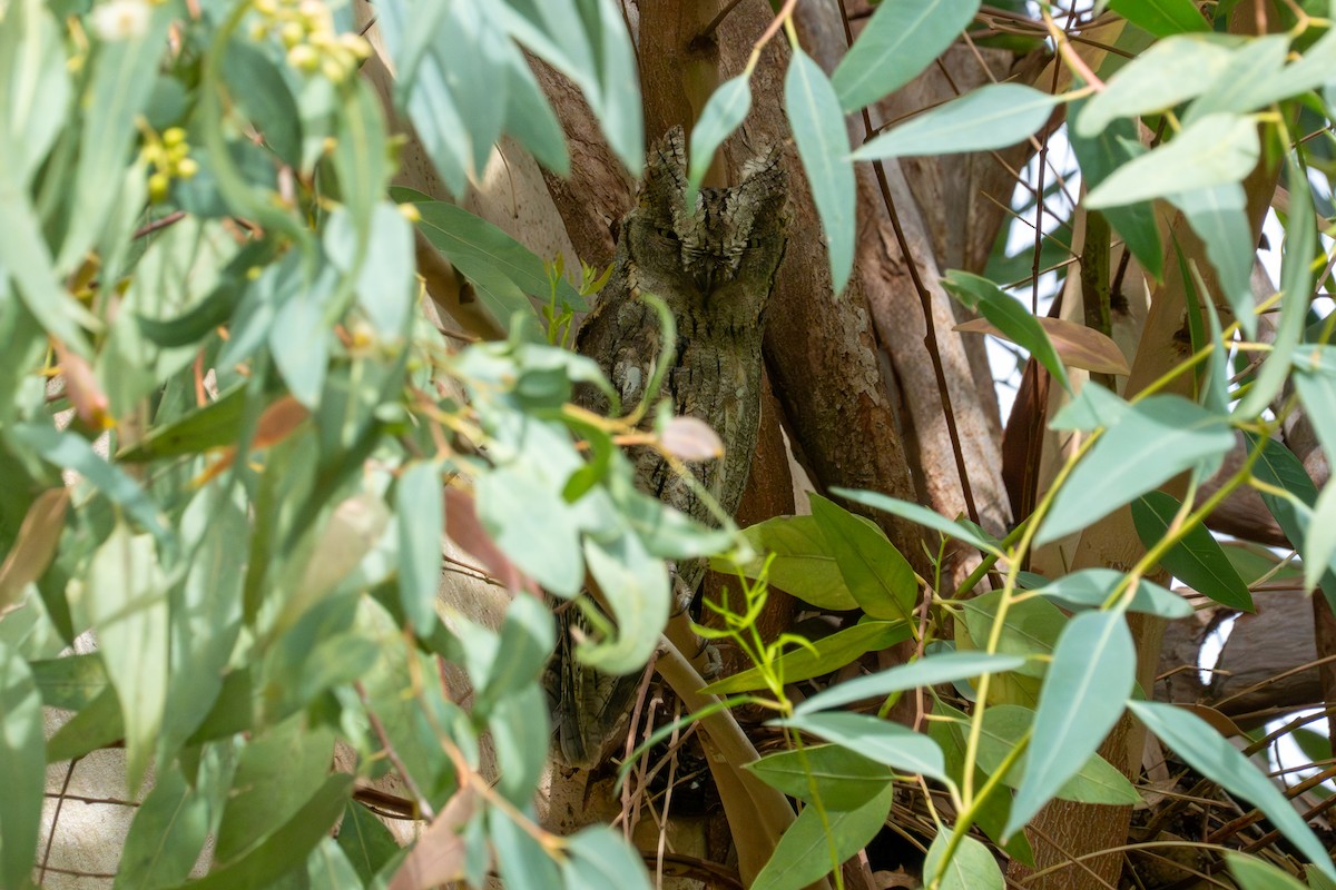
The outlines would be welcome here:
<svg viewBox="0 0 1336 890">
<path fill-rule="evenodd" d="M 1206 115 L 1173 141 L 1140 155 L 1086 195 L 1101 209 L 1238 183 L 1261 156 L 1257 124 L 1241 115 Z"/>
</svg>

